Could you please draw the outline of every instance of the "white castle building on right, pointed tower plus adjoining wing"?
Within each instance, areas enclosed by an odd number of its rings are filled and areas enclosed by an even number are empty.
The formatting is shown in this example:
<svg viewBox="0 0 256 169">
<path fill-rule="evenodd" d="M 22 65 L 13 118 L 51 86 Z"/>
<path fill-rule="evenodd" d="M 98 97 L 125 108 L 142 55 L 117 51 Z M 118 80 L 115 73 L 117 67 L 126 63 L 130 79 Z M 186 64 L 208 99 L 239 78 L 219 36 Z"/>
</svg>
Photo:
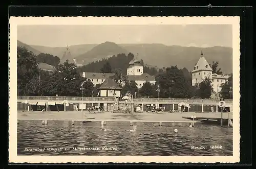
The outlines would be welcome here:
<svg viewBox="0 0 256 169">
<path fill-rule="evenodd" d="M 203 56 L 203 52 L 201 52 L 201 57 L 191 73 L 193 86 L 197 83 L 201 83 L 206 77 L 208 77 L 211 79 L 212 88 L 217 95 L 221 91 L 221 84 L 227 82 L 229 78 L 228 75 L 212 74 L 212 68 Z"/>
</svg>

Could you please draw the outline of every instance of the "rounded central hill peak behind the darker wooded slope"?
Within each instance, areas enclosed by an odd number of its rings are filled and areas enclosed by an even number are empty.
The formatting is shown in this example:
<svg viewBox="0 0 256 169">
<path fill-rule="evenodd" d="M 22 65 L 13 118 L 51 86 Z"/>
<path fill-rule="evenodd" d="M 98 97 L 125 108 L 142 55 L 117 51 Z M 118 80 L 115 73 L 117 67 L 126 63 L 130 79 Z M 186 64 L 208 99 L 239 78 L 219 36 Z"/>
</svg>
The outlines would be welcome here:
<svg viewBox="0 0 256 169">
<path fill-rule="evenodd" d="M 101 44 L 93 47 L 93 49 L 88 51 L 87 53 L 77 56 L 76 62 L 86 65 L 93 61 L 102 60 L 103 58 L 112 57 L 113 55 L 128 54 L 128 53 L 129 52 L 127 52 L 122 47 L 118 46 L 116 43 L 104 42 L 104 43 L 101 43 Z"/>
</svg>

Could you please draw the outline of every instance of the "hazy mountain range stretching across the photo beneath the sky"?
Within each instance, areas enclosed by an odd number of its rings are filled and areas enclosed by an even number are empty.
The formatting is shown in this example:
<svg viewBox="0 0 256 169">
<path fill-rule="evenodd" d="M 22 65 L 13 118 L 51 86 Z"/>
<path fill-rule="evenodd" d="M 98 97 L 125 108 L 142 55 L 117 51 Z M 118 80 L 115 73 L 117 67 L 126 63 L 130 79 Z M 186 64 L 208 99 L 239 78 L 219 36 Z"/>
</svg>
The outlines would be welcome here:
<svg viewBox="0 0 256 169">
<path fill-rule="evenodd" d="M 221 68 L 224 73 L 232 73 L 231 47 L 184 47 L 179 45 L 165 45 L 161 43 L 116 44 L 114 42 L 107 42 L 109 44 L 109 47 L 107 47 L 106 49 L 106 47 L 100 47 L 104 43 L 98 45 L 71 45 L 69 46 L 69 49 L 72 49 L 72 47 L 74 46 L 76 46 L 77 48 L 74 48 L 73 51 L 70 50 L 72 58 L 70 58 L 69 60 L 73 61 L 73 58 L 78 58 L 78 62 L 81 60 L 85 60 L 85 64 L 88 64 L 96 60 L 108 58 L 112 55 L 117 55 L 118 53 L 133 53 L 135 57 L 138 57 L 138 59 L 142 59 L 147 65 L 154 65 L 154 67 L 157 66 L 159 68 L 169 67 L 170 65 L 177 65 L 180 68 L 186 67 L 189 71 L 191 71 L 193 70 L 195 64 L 198 62 L 201 51 L 203 51 L 204 57 L 209 64 L 212 64 L 213 61 L 218 61 L 219 68 Z M 36 45 L 31 46 L 35 47 Z M 39 51 L 38 46 L 35 47 L 35 50 Z M 65 53 L 65 50 L 66 47 L 58 47 L 58 50 L 55 51 L 55 53 L 52 53 L 50 50 L 47 51 L 46 47 L 45 50 L 40 52 L 50 53 L 54 56 L 58 56 L 61 59 L 63 54 Z M 58 55 L 56 55 L 57 52 L 59 53 Z"/>
</svg>

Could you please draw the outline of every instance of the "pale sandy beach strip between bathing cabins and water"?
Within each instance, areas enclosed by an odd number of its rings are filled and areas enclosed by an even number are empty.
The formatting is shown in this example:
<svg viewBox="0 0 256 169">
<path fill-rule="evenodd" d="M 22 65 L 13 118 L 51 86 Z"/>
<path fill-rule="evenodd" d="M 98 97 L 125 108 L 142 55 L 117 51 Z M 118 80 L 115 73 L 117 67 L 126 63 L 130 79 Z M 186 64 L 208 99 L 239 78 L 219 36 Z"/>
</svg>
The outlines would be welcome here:
<svg viewBox="0 0 256 169">
<path fill-rule="evenodd" d="M 41 111 L 25 111 L 17 112 L 18 120 L 142 120 L 142 121 L 191 121 L 190 119 L 185 119 L 183 116 L 196 117 L 214 117 L 220 118 L 221 113 L 169 113 L 169 112 L 159 112 L 159 113 L 135 113 L 132 114 L 122 114 L 122 113 L 89 113 L 89 111 L 59 111 L 59 112 L 41 112 Z M 228 118 L 228 113 L 223 113 L 223 118 Z M 229 113 L 229 118 L 232 118 L 232 113 Z"/>
</svg>

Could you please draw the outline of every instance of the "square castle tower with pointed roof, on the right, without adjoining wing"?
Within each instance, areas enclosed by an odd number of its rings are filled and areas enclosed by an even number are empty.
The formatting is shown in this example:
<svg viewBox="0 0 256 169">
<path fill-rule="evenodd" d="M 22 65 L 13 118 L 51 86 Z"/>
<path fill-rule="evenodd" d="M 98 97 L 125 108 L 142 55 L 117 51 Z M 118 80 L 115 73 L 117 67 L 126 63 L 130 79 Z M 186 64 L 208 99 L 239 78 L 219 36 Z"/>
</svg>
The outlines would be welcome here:
<svg viewBox="0 0 256 169">
<path fill-rule="evenodd" d="M 197 83 L 201 83 L 206 77 L 212 79 L 212 68 L 203 56 L 203 51 L 201 51 L 201 57 L 192 71 L 192 85 L 195 86 Z"/>
</svg>

